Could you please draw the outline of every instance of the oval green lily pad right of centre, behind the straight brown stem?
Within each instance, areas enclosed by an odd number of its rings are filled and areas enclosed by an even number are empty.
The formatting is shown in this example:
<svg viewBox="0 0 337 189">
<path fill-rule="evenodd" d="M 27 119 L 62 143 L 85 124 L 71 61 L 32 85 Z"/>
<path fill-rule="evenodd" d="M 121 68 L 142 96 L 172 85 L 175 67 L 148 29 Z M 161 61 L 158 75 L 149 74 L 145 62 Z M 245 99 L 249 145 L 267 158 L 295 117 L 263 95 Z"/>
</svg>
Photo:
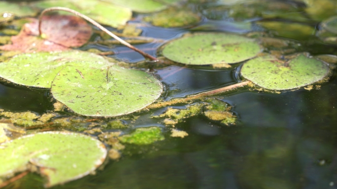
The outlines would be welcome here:
<svg viewBox="0 0 337 189">
<path fill-rule="evenodd" d="M 225 33 L 201 33 L 169 42 L 162 51 L 170 60 L 192 65 L 237 63 L 255 57 L 261 48 L 251 38 Z"/>
</svg>

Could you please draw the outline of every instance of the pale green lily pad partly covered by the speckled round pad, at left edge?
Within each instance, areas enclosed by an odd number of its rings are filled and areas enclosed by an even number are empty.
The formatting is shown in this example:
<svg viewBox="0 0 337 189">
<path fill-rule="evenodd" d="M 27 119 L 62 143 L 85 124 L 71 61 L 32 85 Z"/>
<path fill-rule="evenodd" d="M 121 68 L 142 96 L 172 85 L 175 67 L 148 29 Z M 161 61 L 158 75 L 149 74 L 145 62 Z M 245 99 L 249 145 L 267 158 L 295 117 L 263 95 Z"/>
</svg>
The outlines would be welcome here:
<svg viewBox="0 0 337 189">
<path fill-rule="evenodd" d="M 19 54 L 0 63 L 0 77 L 20 85 L 50 88 L 65 65 L 101 67 L 107 64 L 111 63 L 102 56 L 81 51 Z"/>
</svg>

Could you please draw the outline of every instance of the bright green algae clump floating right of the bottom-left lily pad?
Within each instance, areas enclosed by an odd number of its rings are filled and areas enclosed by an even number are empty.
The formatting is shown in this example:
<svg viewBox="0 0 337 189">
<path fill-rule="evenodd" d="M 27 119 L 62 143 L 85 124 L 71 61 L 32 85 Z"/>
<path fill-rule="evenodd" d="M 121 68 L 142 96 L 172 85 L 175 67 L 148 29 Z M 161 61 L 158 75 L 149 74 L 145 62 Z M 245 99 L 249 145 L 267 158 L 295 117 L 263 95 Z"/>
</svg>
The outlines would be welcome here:
<svg viewBox="0 0 337 189">
<path fill-rule="evenodd" d="M 138 128 L 135 132 L 118 138 L 123 143 L 136 145 L 147 145 L 165 139 L 161 128 L 158 127 Z"/>
</svg>

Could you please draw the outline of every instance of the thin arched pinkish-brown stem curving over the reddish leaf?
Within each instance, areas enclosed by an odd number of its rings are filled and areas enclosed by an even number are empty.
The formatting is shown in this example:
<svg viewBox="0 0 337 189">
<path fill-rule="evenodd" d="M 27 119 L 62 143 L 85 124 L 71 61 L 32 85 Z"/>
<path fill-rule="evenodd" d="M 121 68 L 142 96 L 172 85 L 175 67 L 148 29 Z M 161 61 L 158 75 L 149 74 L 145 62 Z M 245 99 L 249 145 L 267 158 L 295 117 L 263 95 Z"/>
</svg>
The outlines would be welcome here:
<svg viewBox="0 0 337 189">
<path fill-rule="evenodd" d="M 39 34 L 41 35 L 42 32 L 41 32 L 41 22 L 42 22 L 42 16 L 43 14 L 45 14 L 46 12 L 50 12 L 50 11 L 55 11 L 55 10 L 63 10 L 63 11 L 66 11 L 66 12 L 70 12 L 76 16 L 79 16 L 85 20 L 87 20 L 88 22 L 90 22 L 91 24 L 95 25 L 96 27 L 100 28 L 101 30 L 103 30 L 104 32 L 106 32 L 108 35 L 110 35 L 111 37 L 115 38 L 117 41 L 119 41 L 121 44 L 129 47 L 130 49 L 140 53 L 141 55 L 143 55 L 144 57 L 147 57 L 153 61 L 158 61 L 157 58 L 155 58 L 154 56 L 151 56 L 150 54 L 147 54 L 137 48 L 135 48 L 134 46 L 132 46 L 130 43 L 124 41 L 123 39 L 119 38 L 118 36 L 116 36 L 115 34 L 111 33 L 109 30 L 107 30 L 105 27 L 102 27 L 99 23 L 97 23 L 96 21 L 94 21 L 93 19 L 75 11 L 75 10 L 72 10 L 72 9 L 69 9 L 69 8 L 65 8 L 65 7 L 50 7 L 50 8 L 47 8 L 47 9 L 44 9 L 41 14 L 40 14 L 40 17 L 38 19 L 38 31 L 39 31 Z"/>
</svg>

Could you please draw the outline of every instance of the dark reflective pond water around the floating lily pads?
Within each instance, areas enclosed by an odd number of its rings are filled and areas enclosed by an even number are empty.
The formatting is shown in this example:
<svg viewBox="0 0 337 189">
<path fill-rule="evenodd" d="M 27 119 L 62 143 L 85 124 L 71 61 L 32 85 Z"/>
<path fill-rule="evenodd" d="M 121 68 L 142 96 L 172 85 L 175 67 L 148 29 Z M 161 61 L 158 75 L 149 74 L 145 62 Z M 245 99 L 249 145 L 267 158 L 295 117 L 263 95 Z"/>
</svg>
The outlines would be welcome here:
<svg viewBox="0 0 337 189">
<path fill-rule="evenodd" d="M 202 15 L 203 20 L 198 26 L 162 28 L 146 24 L 140 27 L 143 29 L 141 35 L 169 40 L 195 30 L 240 34 L 247 32 L 246 29 L 234 26 L 240 19 L 224 14 L 223 5 L 214 5 L 214 1 L 208 3 L 196 1 L 189 2 L 186 7 Z M 311 15 L 303 12 L 303 6 L 308 6 L 305 5 L 305 0 L 269 2 L 282 2 L 298 8 L 298 12 L 304 15 L 304 21 L 298 21 L 298 17 L 280 16 L 266 20 L 289 25 L 304 23 L 319 28 L 320 21 L 310 19 Z M 336 3 L 333 0 L 332 2 Z M 284 14 L 286 13 L 287 11 L 284 11 Z M 132 21 L 133 23 L 141 22 L 142 14 L 135 14 L 134 17 L 136 19 Z M 289 32 L 295 33 L 283 35 L 255 23 L 261 19 L 263 17 L 257 15 L 241 20 L 254 21 L 249 29 L 251 32 L 264 32 L 266 36 L 290 41 L 292 49 L 295 49 L 292 53 L 337 55 L 337 45 L 323 42 L 315 33 L 303 39 L 303 36 L 300 36 L 301 32 L 296 33 L 296 30 L 290 29 Z M 201 27 L 207 25 L 211 25 L 211 29 Z M 162 43 L 147 43 L 136 47 L 156 55 L 161 45 Z M 131 63 L 143 60 L 141 55 L 122 46 L 110 48 L 91 44 L 80 49 L 90 48 L 114 51 L 117 54 L 110 55 L 111 57 Z M 265 51 L 272 51 L 272 48 Z M 155 73 L 166 86 L 163 99 L 169 100 L 241 81 L 242 78 L 238 74 L 241 64 L 235 64 L 227 69 L 172 65 L 155 69 Z M 147 146 L 127 145 L 119 161 L 109 161 L 103 169 L 97 170 L 95 175 L 88 175 L 54 188 L 337 189 L 335 71 L 328 82 L 321 84 L 320 89 L 299 89 L 276 94 L 244 88 L 216 97 L 233 106 L 231 111 L 238 117 L 236 125 L 224 126 L 217 121 L 210 121 L 203 115 L 194 116 L 175 125 L 189 135 L 184 138 L 173 138 L 169 136 L 167 127 L 158 120 L 150 118 L 151 115 L 164 112 L 166 108 L 139 113 L 137 115 L 140 117 L 133 123 L 130 120 L 127 122 L 134 128 L 162 127 L 166 139 Z M 185 105 L 174 107 L 185 108 Z M 0 108 L 17 112 L 29 110 L 42 114 L 52 110 L 53 105 L 49 92 L 13 87 L 2 82 Z M 43 188 L 43 182 L 43 178 L 39 175 L 30 173 L 5 189 L 39 189 Z"/>
</svg>

